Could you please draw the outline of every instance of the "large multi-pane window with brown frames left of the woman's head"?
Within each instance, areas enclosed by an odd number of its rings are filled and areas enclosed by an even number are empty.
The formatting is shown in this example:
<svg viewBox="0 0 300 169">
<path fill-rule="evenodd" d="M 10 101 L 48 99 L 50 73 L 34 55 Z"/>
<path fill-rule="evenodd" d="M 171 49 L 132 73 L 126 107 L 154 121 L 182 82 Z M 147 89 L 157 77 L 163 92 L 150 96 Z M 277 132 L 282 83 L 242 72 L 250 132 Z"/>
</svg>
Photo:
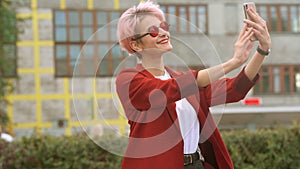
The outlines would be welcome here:
<svg viewBox="0 0 300 169">
<path fill-rule="evenodd" d="M 55 10 L 56 77 L 112 76 L 127 56 L 117 44 L 113 24 L 120 15 L 121 11 Z"/>
</svg>

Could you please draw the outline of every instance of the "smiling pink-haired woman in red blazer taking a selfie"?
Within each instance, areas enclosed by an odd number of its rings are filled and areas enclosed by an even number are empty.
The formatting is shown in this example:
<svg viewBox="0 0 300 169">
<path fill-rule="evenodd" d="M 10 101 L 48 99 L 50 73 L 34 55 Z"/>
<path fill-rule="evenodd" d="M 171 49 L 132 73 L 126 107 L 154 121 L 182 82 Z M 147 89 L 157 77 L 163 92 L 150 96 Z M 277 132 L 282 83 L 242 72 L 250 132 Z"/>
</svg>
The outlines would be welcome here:
<svg viewBox="0 0 300 169">
<path fill-rule="evenodd" d="M 264 20 L 249 9 L 234 45 L 233 57 L 220 65 L 177 72 L 163 63 L 172 50 L 168 24 L 159 6 L 141 2 L 118 22 L 121 47 L 137 56 L 136 68 L 117 76 L 117 93 L 130 134 L 122 169 L 233 168 L 209 107 L 237 102 L 258 80 L 258 71 L 271 45 Z M 235 78 L 221 78 L 243 65 L 258 39 L 258 50 Z M 221 79 L 220 79 L 221 78 Z"/>
</svg>

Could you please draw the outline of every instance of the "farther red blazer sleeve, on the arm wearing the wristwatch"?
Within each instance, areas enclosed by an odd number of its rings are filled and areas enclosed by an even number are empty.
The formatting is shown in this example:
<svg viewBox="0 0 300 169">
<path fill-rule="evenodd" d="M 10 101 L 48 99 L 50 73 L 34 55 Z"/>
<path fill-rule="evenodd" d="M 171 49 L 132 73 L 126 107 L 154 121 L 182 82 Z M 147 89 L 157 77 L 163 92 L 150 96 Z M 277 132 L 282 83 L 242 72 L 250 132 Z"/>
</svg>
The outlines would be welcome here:
<svg viewBox="0 0 300 169">
<path fill-rule="evenodd" d="M 209 106 L 233 103 L 242 100 L 257 83 L 259 75 L 251 81 L 245 75 L 245 68 L 234 78 L 222 78 L 207 86 L 204 90 Z"/>
</svg>

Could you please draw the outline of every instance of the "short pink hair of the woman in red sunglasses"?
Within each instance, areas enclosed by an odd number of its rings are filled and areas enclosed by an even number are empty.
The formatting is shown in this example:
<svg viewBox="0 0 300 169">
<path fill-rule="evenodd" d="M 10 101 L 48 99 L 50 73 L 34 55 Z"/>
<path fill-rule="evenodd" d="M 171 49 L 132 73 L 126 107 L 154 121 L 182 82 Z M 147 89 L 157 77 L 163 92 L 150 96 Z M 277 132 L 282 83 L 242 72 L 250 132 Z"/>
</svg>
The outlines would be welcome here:
<svg viewBox="0 0 300 169">
<path fill-rule="evenodd" d="M 141 20 L 147 15 L 156 16 L 161 21 L 165 20 L 164 13 L 159 8 L 159 5 L 154 4 L 151 0 L 140 2 L 138 6 L 127 9 L 119 19 L 117 36 L 121 48 L 126 50 L 129 54 L 134 53 L 129 42 L 131 38 L 137 34 L 137 25 L 139 25 Z"/>
</svg>

